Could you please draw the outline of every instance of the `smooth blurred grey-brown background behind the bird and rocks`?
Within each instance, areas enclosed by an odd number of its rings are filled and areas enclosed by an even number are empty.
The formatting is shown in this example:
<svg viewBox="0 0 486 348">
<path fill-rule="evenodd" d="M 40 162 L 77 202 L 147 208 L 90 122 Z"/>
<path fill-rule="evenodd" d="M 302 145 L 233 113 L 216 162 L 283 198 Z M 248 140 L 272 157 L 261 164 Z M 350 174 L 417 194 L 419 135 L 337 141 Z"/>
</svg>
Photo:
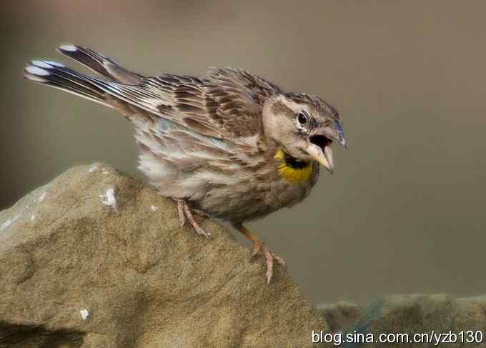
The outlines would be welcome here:
<svg viewBox="0 0 486 348">
<path fill-rule="evenodd" d="M 8 1 L 0 209 L 77 164 L 141 177 L 130 124 L 25 81 L 30 59 L 77 69 L 54 51 L 73 43 L 142 74 L 241 67 L 322 96 L 344 119 L 349 149 L 334 148 L 334 176 L 249 224 L 313 304 L 484 294 L 485 11 L 440 0 Z"/>
</svg>

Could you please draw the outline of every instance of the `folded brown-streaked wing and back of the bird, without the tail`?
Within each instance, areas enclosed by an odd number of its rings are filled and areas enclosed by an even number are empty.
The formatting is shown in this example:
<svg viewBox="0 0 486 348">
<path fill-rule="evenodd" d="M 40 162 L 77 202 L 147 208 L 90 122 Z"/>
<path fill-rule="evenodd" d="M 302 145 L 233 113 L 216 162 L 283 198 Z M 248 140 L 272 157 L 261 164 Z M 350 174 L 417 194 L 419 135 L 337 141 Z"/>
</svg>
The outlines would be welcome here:
<svg viewBox="0 0 486 348">
<path fill-rule="evenodd" d="M 229 68 L 211 69 L 204 79 L 162 74 L 137 85 L 95 83 L 118 99 L 201 134 L 243 142 L 261 134 L 264 101 L 282 93 L 259 76 Z"/>
</svg>

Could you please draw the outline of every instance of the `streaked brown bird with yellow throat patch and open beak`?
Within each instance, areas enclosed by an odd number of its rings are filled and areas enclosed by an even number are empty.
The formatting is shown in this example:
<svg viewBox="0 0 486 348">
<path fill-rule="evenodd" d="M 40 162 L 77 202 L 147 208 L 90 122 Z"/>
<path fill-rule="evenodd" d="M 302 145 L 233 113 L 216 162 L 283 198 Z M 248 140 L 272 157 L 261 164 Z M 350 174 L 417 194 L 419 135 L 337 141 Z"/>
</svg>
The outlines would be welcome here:
<svg viewBox="0 0 486 348">
<path fill-rule="evenodd" d="M 32 60 L 24 77 L 123 114 L 134 126 L 138 169 L 174 200 L 180 225 L 209 238 L 194 214 L 229 222 L 252 242 L 251 259 L 263 254 L 269 284 L 274 262 L 284 260 L 244 224 L 302 202 L 319 166 L 332 174 L 332 143 L 347 147 L 338 111 L 244 69 L 144 76 L 88 47 L 56 50 L 96 76 Z"/>
</svg>

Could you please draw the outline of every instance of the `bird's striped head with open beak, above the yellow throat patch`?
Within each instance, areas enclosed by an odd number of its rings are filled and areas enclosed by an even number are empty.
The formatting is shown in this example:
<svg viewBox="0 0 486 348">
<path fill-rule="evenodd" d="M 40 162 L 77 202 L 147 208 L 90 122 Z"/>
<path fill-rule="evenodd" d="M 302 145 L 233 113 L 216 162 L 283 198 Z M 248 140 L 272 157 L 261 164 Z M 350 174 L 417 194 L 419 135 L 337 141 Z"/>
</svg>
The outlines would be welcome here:
<svg viewBox="0 0 486 348">
<path fill-rule="evenodd" d="M 331 144 L 346 146 L 342 121 L 336 109 L 317 96 L 279 94 L 263 106 L 264 132 L 297 161 L 318 161 L 334 171 Z"/>
</svg>

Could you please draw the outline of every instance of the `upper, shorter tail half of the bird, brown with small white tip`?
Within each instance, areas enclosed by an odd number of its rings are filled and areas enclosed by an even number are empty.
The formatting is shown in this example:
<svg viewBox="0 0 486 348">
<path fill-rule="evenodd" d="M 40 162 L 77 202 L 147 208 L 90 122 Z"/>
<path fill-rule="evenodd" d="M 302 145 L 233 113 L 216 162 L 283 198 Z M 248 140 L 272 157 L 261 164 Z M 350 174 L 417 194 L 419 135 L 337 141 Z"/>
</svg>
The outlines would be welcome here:
<svg viewBox="0 0 486 348">
<path fill-rule="evenodd" d="M 142 75 L 124 69 L 112 59 L 96 53 L 87 47 L 68 44 L 59 46 L 57 51 L 112 81 L 118 81 L 124 84 L 138 84 L 143 78 Z"/>
</svg>

